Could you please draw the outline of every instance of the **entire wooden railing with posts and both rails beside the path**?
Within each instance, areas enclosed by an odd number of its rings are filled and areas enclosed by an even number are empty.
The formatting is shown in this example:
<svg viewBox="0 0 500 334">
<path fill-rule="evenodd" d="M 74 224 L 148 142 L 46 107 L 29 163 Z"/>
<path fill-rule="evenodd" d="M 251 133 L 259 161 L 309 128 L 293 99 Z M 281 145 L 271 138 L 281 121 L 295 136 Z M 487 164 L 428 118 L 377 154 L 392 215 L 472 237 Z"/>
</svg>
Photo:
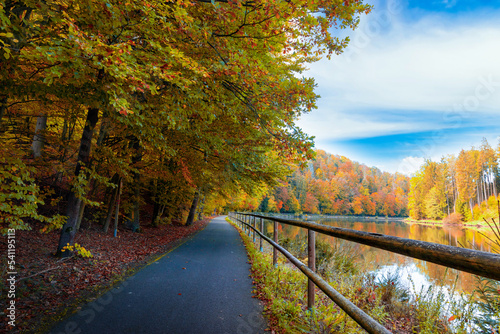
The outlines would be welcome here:
<svg viewBox="0 0 500 334">
<path fill-rule="evenodd" d="M 289 220 L 277 217 L 267 217 L 249 213 L 230 213 L 229 217 L 239 223 L 250 234 L 253 232 L 253 241 L 256 234 L 260 236 L 260 249 L 263 249 L 263 240 L 273 246 L 273 264 L 277 264 L 278 251 L 293 263 L 304 275 L 308 282 L 308 308 L 314 306 L 314 285 L 321 289 L 330 299 L 344 310 L 354 321 L 369 333 L 391 333 L 380 323 L 371 318 L 363 310 L 354 305 L 347 298 L 333 289 L 328 282 L 315 272 L 315 232 L 341 238 L 360 244 L 384 249 L 393 253 L 406 255 L 412 258 L 440 264 L 442 266 L 466 271 L 475 275 L 500 280 L 500 255 L 472 249 L 453 247 L 424 242 L 389 235 L 351 230 L 340 227 L 322 225 L 309 221 Z M 257 223 L 260 220 L 260 224 Z M 273 239 L 264 235 L 264 220 L 272 221 Z M 278 244 L 278 223 L 298 226 L 308 231 L 308 264 L 305 265 L 290 252 Z M 260 230 L 258 228 L 260 226 Z"/>
</svg>

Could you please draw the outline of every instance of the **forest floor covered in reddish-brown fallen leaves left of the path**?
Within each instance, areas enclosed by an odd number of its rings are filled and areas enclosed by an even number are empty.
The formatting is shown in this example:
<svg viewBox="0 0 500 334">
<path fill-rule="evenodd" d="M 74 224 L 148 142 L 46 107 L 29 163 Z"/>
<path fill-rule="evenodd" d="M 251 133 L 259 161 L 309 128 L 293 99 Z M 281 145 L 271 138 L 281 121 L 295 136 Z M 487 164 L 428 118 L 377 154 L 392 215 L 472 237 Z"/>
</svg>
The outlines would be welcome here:
<svg viewBox="0 0 500 334">
<path fill-rule="evenodd" d="M 120 230 L 118 237 L 104 234 L 100 228 L 80 231 L 75 242 L 93 257 L 56 258 L 54 251 L 59 232 L 37 230 L 15 233 L 15 327 L 7 327 L 7 281 L 0 288 L 0 333 L 44 333 L 51 325 L 94 300 L 160 255 L 177 247 L 188 237 L 205 228 L 211 218 L 192 224 L 141 227 L 140 233 Z M 7 254 L 7 237 L 0 239 L 2 254 Z M 2 277 L 7 275 L 7 257 L 3 257 Z"/>
</svg>

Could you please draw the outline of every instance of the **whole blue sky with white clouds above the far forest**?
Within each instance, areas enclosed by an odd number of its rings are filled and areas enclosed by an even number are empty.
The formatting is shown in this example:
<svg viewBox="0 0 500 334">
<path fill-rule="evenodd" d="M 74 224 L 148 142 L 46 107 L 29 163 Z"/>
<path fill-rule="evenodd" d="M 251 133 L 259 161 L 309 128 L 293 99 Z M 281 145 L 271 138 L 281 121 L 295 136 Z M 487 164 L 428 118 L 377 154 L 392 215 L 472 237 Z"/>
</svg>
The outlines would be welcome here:
<svg viewBox="0 0 500 334">
<path fill-rule="evenodd" d="M 500 0 L 368 3 L 346 51 L 305 74 L 321 98 L 298 124 L 316 147 L 406 174 L 483 138 L 496 147 Z"/>
</svg>

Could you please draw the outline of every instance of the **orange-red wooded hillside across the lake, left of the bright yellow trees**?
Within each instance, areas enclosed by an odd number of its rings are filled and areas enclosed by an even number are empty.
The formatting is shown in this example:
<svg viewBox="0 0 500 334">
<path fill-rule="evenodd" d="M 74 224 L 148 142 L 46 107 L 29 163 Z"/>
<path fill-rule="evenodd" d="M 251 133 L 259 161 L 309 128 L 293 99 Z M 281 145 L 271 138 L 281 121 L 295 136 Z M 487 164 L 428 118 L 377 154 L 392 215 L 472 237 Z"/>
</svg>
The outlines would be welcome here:
<svg viewBox="0 0 500 334">
<path fill-rule="evenodd" d="M 230 209 L 327 215 L 407 216 L 410 178 L 316 150 L 278 187 L 260 197 L 241 194 Z"/>
</svg>

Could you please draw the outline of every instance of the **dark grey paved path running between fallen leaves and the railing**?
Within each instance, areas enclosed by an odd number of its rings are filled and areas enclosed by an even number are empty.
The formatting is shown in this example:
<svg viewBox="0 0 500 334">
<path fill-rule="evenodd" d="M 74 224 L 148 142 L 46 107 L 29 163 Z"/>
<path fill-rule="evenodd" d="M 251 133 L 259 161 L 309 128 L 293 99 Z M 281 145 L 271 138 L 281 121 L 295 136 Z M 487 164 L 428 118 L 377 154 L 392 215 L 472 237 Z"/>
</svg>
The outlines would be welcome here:
<svg viewBox="0 0 500 334">
<path fill-rule="evenodd" d="M 264 333 L 245 248 L 224 218 L 49 333 Z"/>
</svg>

